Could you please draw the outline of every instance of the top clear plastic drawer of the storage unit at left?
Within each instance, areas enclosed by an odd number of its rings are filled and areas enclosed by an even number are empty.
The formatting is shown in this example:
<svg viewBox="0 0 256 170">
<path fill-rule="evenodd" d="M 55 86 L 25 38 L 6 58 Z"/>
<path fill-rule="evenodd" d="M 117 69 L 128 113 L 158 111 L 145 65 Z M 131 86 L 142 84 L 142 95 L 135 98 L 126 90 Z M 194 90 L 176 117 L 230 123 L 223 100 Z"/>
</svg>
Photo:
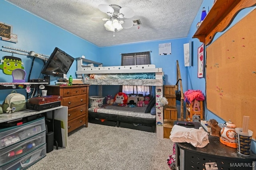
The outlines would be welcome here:
<svg viewBox="0 0 256 170">
<path fill-rule="evenodd" d="M 0 129 L 0 149 L 24 141 L 28 137 L 37 135 L 45 130 L 44 117 L 22 125 Z"/>
</svg>

